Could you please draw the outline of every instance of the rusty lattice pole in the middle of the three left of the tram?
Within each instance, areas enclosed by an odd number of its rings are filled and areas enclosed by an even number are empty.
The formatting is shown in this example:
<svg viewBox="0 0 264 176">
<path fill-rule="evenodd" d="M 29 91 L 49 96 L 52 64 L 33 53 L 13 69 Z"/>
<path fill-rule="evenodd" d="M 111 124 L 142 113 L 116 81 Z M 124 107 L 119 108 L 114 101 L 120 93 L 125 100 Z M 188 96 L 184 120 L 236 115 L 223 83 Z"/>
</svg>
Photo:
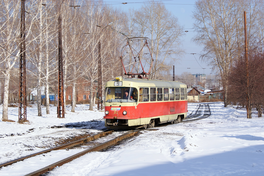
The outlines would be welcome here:
<svg viewBox="0 0 264 176">
<path fill-rule="evenodd" d="M 63 62 L 62 62 L 62 19 L 58 18 L 58 118 L 64 118 Z"/>
</svg>

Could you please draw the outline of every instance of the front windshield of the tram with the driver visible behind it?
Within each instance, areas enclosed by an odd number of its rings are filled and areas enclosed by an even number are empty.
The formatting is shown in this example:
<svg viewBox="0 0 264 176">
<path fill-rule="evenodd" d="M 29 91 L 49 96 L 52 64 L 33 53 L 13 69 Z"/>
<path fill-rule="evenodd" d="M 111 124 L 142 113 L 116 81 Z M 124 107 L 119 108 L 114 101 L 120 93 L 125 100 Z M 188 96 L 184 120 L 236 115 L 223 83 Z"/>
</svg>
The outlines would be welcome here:
<svg viewBox="0 0 264 176">
<path fill-rule="evenodd" d="M 138 90 L 134 87 L 106 87 L 105 102 L 137 102 Z"/>
</svg>

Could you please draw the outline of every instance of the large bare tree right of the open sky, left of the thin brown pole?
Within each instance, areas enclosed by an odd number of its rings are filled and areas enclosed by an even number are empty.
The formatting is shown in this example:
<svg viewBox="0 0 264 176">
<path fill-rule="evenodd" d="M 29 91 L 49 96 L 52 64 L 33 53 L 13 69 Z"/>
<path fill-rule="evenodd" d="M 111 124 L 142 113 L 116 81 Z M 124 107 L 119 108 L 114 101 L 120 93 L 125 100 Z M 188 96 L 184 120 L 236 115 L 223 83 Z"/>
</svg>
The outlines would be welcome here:
<svg viewBox="0 0 264 176">
<path fill-rule="evenodd" d="M 237 0 L 199 0 L 193 18 L 197 35 L 194 41 L 204 46 L 202 59 L 220 72 L 224 87 L 224 107 L 227 107 L 227 76 L 232 61 L 237 57 L 238 30 L 243 26 L 243 8 Z M 241 32 L 240 32 L 241 33 Z"/>
</svg>

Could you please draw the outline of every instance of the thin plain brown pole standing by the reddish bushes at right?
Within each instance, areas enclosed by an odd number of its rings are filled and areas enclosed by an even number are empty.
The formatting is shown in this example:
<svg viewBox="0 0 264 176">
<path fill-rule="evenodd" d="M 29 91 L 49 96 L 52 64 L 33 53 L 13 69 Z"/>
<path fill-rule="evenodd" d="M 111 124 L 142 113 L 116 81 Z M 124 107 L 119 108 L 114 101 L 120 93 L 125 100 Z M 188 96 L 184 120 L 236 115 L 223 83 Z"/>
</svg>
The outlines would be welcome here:
<svg viewBox="0 0 264 176">
<path fill-rule="evenodd" d="M 246 96 L 247 96 L 247 118 L 251 119 L 251 114 L 249 114 L 249 74 L 248 74 L 248 47 L 247 47 L 247 18 L 246 11 L 244 11 L 244 26 L 245 26 L 245 64 L 246 64 Z"/>
</svg>

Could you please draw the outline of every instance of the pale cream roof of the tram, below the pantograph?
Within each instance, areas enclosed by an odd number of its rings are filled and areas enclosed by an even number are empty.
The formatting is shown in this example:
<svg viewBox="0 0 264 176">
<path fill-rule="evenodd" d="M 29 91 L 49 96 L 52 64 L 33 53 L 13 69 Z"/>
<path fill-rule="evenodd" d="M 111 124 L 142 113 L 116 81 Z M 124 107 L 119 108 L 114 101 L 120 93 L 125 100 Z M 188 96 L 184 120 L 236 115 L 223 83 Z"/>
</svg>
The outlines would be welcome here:
<svg viewBox="0 0 264 176">
<path fill-rule="evenodd" d="M 113 82 L 116 79 L 112 80 Z M 106 86 L 111 86 L 112 81 L 106 83 Z M 123 86 L 125 86 L 125 82 L 132 82 L 129 87 L 137 86 L 137 87 L 181 87 L 187 88 L 186 84 L 178 81 L 165 81 L 165 80 L 158 80 L 158 79 L 138 79 L 138 78 L 124 78 L 120 81 L 124 82 Z M 114 84 L 114 83 L 112 83 Z"/>
</svg>

